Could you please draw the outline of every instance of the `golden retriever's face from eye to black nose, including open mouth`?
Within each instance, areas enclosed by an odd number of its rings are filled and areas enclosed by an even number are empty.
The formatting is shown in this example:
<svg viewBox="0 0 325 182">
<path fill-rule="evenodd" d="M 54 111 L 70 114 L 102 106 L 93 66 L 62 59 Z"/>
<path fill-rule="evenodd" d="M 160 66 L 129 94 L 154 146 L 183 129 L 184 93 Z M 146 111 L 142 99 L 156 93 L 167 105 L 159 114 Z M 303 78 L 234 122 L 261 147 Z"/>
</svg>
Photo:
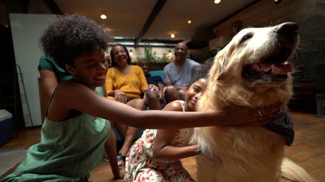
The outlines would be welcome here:
<svg viewBox="0 0 325 182">
<path fill-rule="evenodd" d="M 249 86 L 280 85 L 293 69 L 289 59 L 298 47 L 298 30 L 292 22 L 243 29 L 230 43 L 236 48 L 229 60 L 242 64 L 239 72 Z"/>
</svg>

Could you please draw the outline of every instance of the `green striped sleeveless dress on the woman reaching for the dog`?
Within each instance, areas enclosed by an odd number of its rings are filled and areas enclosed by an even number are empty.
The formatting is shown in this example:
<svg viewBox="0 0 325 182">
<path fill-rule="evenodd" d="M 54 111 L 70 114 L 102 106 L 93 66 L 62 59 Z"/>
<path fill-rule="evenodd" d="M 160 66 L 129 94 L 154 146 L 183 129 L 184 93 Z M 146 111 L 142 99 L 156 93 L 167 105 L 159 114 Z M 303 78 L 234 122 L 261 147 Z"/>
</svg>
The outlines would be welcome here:
<svg viewBox="0 0 325 182">
<path fill-rule="evenodd" d="M 96 91 L 103 95 L 103 89 Z M 81 115 L 61 122 L 47 118 L 41 142 L 30 147 L 26 158 L 3 181 L 88 181 L 89 172 L 103 161 L 110 122 Z"/>
</svg>

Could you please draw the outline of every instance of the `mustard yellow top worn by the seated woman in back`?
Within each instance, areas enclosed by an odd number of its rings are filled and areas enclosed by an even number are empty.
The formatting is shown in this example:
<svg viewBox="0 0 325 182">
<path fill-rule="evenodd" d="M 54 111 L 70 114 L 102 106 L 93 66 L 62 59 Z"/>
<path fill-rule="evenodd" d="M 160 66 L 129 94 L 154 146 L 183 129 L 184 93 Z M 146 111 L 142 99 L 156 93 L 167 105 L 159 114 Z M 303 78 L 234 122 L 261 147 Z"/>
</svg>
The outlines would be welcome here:
<svg viewBox="0 0 325 182">
<path fill-rule="evenodd" d="M 144 72 L 140 66 L 132 65 L 131 71 L 125 75 L 115 67 L 109 68 L 106 75 L 107 95 L 113 90 L 119 89 L 126 94 L 127 100 L 141 98 L 141 93 L 148 86 Z"/>
</svg>

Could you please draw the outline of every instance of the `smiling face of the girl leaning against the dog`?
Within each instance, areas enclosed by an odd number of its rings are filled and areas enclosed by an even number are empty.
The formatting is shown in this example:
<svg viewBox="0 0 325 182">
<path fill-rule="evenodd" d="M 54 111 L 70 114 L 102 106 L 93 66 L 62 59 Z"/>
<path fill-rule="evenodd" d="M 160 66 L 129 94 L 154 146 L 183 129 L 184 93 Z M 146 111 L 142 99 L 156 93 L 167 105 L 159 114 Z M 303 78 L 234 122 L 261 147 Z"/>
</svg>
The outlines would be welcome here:
<svg viewBox="0 0 325 182">
<path fill-rule="evenodd" d="M 205 78 L 201 78 L 191 84 L 185 96 L 186 111 L 195 111 L 195 106 L 197 105 L 198 99 L 204 93 L 207 85 L 208 80 Z"/>
</svg>

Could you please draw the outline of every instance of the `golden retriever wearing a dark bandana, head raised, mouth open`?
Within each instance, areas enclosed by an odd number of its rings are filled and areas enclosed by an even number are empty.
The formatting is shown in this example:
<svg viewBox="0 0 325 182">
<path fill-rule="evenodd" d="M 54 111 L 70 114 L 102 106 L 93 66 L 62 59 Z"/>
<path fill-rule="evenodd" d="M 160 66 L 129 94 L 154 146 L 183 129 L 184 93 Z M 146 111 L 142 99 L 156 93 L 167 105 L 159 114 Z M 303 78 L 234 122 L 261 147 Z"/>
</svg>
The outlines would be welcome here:
<svg viewBox="0 0 325 182">
<path fill-rule="evenodd" d="M 222 109 L 231 103 L 255 108 L 256 112 L 276 103 L 286 108 L 293 96 L 288 61 L 299 44 L 298 30 L 293 22 L 241 30 L 215 56 L 197 110 Z M 284 157 L 284 146 L 291 145 L 294 137 L 290 121 L 286 110 L 280 109 L 265 126 L 196 128 L 192 143 L 202 150 L 196 158 L 199 181 L 274 182 L 281 174 L 294 181 L 314 181 Z"/>
</svg>

